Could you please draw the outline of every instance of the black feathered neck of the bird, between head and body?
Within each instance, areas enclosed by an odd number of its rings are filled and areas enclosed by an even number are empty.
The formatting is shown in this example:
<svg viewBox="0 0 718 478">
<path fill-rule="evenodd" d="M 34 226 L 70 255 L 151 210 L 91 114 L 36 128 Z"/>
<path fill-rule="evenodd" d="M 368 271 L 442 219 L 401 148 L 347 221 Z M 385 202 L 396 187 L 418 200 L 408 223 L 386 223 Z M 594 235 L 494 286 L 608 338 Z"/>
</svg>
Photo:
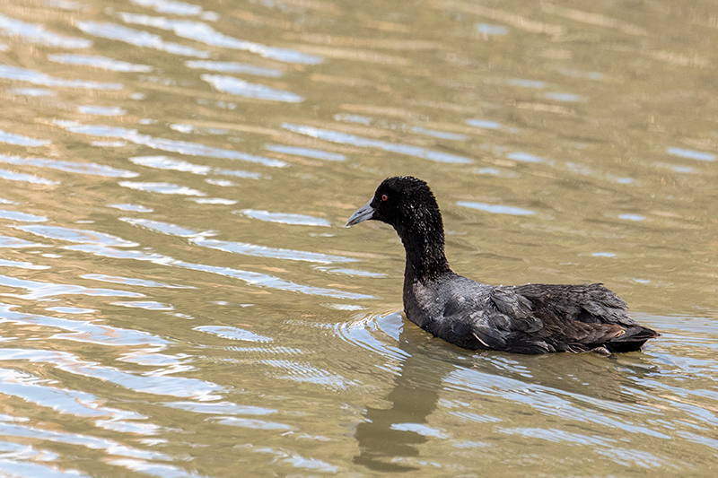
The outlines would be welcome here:
<svg viewBox="0 0 718 478">
<path fill-rule="evenodd" d="M 425 281 L 451 273 L 444 255 L 441 217 L 427 222 L 415 222 L 406 229 L 397 229 L 407 253 L 405 279 Z"/>
</svg>

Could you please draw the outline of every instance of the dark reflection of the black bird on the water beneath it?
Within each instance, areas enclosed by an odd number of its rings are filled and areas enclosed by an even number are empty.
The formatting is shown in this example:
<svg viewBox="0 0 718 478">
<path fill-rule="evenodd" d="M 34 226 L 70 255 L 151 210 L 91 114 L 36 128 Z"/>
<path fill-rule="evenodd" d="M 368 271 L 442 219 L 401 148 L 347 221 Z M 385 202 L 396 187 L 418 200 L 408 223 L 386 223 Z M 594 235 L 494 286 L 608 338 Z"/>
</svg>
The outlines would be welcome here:
<svg viewBox="0 0 718 478">
<path fill-rule="evenodd" d="M 622 413 L 654 412 L 642 404 L 646 390 L 635 394 L 643 388 L 638 382 L 659 373 L 640 352 L 610 358 L 592 353 L 470 352 L 429 337 L 399 313 L 378 317 L 379 328 L 384 328 L 381 321 L 385 319 L 403 322 L 398 328 L 401 353 L 392 354 L 394 358 L 401 355 L 402 360 L 384 398 L 388 405 L 367 406 L 355 431 L 360 452 L 354 463 L 374 472 L 417 471 L 410 462 L 422 455 L 421 446 L 431 439 L 449 439 L 429 425 L 430 415 L 449 389 L 487 400 L 489 410 L 498 405 L 508 413 L 525 413 L 521 407 L 528 404 L 539 415 L 561 415 L 568 422 L 585 419 L 610 424 L 620 420 L 617 415 Z M 552 407 L 562 413 L 551 411 Z M 487 422 L 493 422 L 492 418 Z M 477 439 L 482 428 L 475 429 Z M 642 431 L 640 426 L 622 428 Z M 486 430 L 485 435 L 489 434 Z"/>
</svg>

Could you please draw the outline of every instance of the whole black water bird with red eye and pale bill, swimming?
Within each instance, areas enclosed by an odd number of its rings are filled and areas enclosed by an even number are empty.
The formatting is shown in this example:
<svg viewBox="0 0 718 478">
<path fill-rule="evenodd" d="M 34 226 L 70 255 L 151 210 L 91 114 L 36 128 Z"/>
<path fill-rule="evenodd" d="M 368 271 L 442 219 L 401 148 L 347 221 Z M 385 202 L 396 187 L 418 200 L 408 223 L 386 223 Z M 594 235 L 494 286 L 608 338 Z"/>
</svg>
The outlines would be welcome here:
<svg viewBox="0 0 718 478">
<path fill-rule="evenodd" d="M 409 320 L 471 350 L 515 353 L 631 352 L 660 334 L 626 314 L 600 283 L 494 286 L 451 271 L 442 213 L 421 179 L 387 178 L 346 222 L 386 222 L 407 253 L 404 310 Z"/>
</svg>

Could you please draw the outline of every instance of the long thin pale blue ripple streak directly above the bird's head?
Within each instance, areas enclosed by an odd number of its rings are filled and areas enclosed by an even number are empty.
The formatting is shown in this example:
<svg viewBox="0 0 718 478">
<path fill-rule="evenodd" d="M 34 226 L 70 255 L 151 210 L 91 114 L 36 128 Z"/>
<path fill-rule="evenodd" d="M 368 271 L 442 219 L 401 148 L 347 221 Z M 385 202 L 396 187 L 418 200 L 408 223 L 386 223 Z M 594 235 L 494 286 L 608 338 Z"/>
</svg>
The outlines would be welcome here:
<svg viewBox="0 0 718 478">
<path fill-rule="evenodd" d="M 308 135 L 313 138 L 323 139 L 332 143 L 352 144 L 354 146 L 360 146 L 363 148 L 379 148 L 387 152 L 397 152 L 398 154 L 415 156 L 424 160 L 463 164 L 473 162 L 463 156 L 457 156 L 455 154 L 449 154 L 447 152 L 436 152 L 432 150 L 427 150 L 425 148 L 422 148 L 421 146 L 413 146 L 410 144 L 388 143 L 386 141 L 381 141 L 378 139 L 370 139 L 356 135 L 348 135 L 346 133 L 340 133 L 331 129 L 322 129 L 314 126 L 293 125 L 290 123 L 284 123 L 282 124 L 282 127 L 294 133 Z"/>
</svg>

